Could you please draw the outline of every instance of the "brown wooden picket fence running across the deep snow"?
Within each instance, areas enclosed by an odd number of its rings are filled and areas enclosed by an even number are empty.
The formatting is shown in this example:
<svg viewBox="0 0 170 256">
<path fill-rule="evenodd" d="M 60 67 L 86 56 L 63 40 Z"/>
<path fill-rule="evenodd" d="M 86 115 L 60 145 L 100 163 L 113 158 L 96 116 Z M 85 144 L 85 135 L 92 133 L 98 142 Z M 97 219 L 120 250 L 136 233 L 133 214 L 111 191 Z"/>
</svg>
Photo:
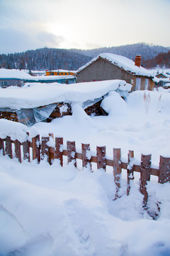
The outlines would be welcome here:
<svg viewBox="0 0 170 256">
<path fill-rule="evenodd" d="M 143 206 L 147 208 L 147 181 L 150 180 L 150 176 L 158 176 L 159 183 L 166 183 L 170 181 L 170 158 L 160 156 L 159 169 L 151 168 L 151 154 L 141 156 L 141 164 L 133 164 L 134 152 L 129 151 L 128 162 L 121 161 L 121 150 L 113 149 L 113 160 L 106 159 L 106 146 L 96 147 L 96 156 L 91 156 L 90 144 L 81 144 L 81 153 L 76 151 L 75 142 L 67 142 L 66 149 L 63 149 L 63 138 L 53 137 L 53 134 L 49 134 L 48 137 L 42 137 L 40 135 L 30 139 L 27 133 L 27 141 L 19 142 L 11 140 L 11 137 L 6 139 L 0 138 L 0 151 L 3 155 L 8 155 L 11 159 L 13 156 L 18 161 L 27 160 L 30 162 L 30 151 L 32 151 L 31 159 L 37 160 L 40 163 L 41 160 L 47 159 L 51 165 L 55 159 L 60 161 L 60 165 L 63 166 L 63 156 L 67 156 L 68 164 L 72 162 L 77 167 L 77 159 L 82 160 L 82 166 L 91 169 L 91 163 L 97 164 L 97 169 L 103 169 L 106 171 L 106 166 L 113 166 L 113 176 L 115 180 L 116 193 L 115 199 L 119 197 L 120 189 L 120 176 L 122 169 L 127 170 L 127 195 L 130 193 L 130 181 L 134 179 L 134 171 L 140 172 L 140 192 L 144 196 Z M 50 141 L 53 141 L 55 146 L 50 146 Z M 13 146 L 14 144 L 14 146 Z M 14 148 L 14 152 L 13 152 Z M 21 153 L 21 148 L 23 152 Z M 31 150 L 30 150 L 31 149 Z"/>
</svg>

